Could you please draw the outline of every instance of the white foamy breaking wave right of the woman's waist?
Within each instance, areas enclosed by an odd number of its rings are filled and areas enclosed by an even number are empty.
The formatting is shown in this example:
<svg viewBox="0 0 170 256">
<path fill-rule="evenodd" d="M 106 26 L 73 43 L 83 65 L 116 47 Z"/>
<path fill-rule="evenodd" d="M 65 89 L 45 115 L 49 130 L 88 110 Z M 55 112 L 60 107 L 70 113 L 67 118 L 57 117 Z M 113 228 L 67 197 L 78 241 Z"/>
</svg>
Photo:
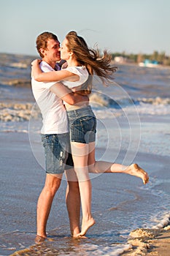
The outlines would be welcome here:
<svg viewBox="0 0 170 256">
<path fill-rule="evenodd" d="M 109 97 L 107 94 L 93 93 L 90 104 L 100 118 L 113 118 L 123 113 L 167 115 L 170 114 L 170 98 L 150 97 L 131 99 L 130 97 Z M 111 113 L 111 115 L 110 115 Z"/>
</svg>

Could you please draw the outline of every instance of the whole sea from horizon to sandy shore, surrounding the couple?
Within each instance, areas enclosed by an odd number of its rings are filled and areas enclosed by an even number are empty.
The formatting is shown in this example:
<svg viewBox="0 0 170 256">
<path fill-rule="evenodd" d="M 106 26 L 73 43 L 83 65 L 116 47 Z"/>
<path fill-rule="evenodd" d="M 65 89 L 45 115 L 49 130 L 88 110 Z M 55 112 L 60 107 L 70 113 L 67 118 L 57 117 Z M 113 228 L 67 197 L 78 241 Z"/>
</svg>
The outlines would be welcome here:
<svg viewBox="0 0 170 256">
<path fill-rule="evenodd" d="M 144 185 L 140 178 L 123 173 L 90 174 L 96 225 L 86 239 L 74 239 L 63 177 L 47 223 L 48 239 L 37 245 L 36 201 L 44 184 L 45 161 L 42 116 L 31 91 L 35 58 L 0 53 L 0 256 L 121 255 L 131 249 L 131 231 L 169 225 L 170 68 L 117 64 L 108 86 L 94 77 L 90 105 L 97 117 L 96 160 L 137 162 L 150 181 Z M 12 166 L 7 156 L 15 157 Z"/>
</svg>

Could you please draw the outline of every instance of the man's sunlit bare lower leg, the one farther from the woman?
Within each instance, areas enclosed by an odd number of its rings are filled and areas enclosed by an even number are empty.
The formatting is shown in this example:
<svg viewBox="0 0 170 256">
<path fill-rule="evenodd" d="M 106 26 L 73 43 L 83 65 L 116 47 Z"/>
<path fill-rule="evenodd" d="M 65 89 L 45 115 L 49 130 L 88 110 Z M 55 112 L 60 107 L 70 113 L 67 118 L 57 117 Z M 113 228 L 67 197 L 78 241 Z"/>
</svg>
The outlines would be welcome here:
<svg viewBox="0 0 170 256">
<path fill-rule="evenodd" d="M 58 191 L 58 188 L 60 187 L 61 178 L 62 174 L 47 174 L 45 180 L 45 187 L 42 189 L 42 192 L 39 195 L 36 211 L 36 235 L 42 238 L 47 237 L 47 219 L 50 214 L 50 208 L 52 206 L 55 193 Z"/>
</svg>

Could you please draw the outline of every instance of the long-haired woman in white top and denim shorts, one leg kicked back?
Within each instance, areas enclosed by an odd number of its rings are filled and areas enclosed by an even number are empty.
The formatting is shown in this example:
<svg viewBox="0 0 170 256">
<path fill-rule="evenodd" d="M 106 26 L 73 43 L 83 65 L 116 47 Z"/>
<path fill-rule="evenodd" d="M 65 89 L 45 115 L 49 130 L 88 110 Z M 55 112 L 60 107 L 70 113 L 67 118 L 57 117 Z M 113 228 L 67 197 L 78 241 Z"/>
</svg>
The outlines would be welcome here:
<svg viewBox="0 0 170 256">
<path fill-rule="evenodd" d="M 101 58 L 98 50 L 88 48 L 85 40 L 72 31 L 66 35 L 61 45 L 61 59 L 66 60 L 68 67 L 57 72 L 42 73 L 39 69 L 39 61 L 34 61 L 33 76 L 38 81 L 62 80 L 65 86 L 80 94 L 90 94 L 92 89 L 92 75 L 98 75 L 102 83 L 106 83 L 116 71 L 110 65 L 111 56 L 104 51 Z M 147 173 L 138 165 L 126 167 L 118 164 L 101 162 L 101 166 L 95 161 L 96 117 L 87 102 L 71 106 L 66 104 L 69 118 L 70 140 L 74 170 L 77 174 L 82 203 L 82 229 L 78 236 L 84 236 L 89 227 L 94 225 L 92 217 L 91 183 L 88 172 L 121 172 L 138 176 L 144 184 L 148 181 Z M 98 165 L 98 166 L 96 166 Z M 97 170 L 97 171 L 96 171 Z"/>
</svg>

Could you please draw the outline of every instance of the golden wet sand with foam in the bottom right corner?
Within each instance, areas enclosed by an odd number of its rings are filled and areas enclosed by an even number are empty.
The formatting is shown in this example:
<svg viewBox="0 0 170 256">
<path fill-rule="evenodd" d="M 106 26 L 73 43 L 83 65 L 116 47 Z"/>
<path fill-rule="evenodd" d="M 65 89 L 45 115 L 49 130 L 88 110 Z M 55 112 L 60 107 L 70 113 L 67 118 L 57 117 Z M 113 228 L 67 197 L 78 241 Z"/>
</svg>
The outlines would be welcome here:
<svg viewBox="0 0 170 256">
<path fill-rule="evenodd" d="M 131 232 L 131 236 L 134 238 L 129 238 L 128 244 L 132 247 L 123 252 L 122 256 L 169 255 L 170 225 L 157 229 L 137 229 Z"/>
</svg>

